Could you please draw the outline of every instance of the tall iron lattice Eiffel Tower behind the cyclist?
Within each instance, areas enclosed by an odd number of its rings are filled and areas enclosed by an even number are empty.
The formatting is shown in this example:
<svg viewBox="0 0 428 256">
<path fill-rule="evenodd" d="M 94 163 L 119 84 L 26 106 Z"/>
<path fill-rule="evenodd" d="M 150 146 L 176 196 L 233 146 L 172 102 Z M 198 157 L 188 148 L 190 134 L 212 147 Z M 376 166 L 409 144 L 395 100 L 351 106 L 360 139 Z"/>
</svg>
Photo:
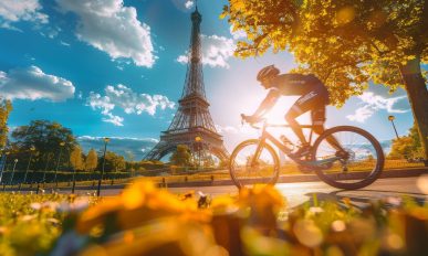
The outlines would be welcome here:
<svg viewBox="0 0 428 256">
<path fill-rule="evenodd" d="M 217 132 L 208 109 L 209 103 L 205 93 L 201 63 L 201 21 L 202 17 L 196 6 L 191 13 L 192 26 L 188 66 L 185 87 L 181 98 L 178 100 L 178 110 L 168 130 L 161 132 L 159 142 L 146 153 L 144 159 L 159 160 L 175 151 L 177 145 L 189 147 L 192 154 L 198 156 L 199 160 L 209 154 L 216 156 L 220 160 L 226 160 L 229 157 L 222 137 Z"/>
</svg>

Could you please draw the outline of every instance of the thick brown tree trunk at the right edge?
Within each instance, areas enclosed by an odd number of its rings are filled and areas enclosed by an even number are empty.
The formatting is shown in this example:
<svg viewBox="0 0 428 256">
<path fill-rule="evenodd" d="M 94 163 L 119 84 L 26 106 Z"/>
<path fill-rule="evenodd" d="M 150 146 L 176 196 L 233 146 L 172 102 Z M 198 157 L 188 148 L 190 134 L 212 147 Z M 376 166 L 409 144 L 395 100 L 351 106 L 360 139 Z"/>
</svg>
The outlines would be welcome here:
<svg viewBox="0 0 428 256">
<path fill-rule="evenodd" d="M 424 156 L 428 160 L 428 89 L 420 70 L 420 57 L 400 66 L 400 72 L 418 127 Z"/>
</svg>

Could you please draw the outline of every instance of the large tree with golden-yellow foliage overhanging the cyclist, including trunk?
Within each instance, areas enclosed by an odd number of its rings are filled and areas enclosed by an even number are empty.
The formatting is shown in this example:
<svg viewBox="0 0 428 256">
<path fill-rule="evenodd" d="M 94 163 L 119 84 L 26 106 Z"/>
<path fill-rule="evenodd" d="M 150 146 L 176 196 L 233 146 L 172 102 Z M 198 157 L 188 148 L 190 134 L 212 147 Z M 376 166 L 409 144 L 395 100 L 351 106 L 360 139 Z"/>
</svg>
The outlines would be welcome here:
<svg viewBox="0 0 428 256">
<path fill-rule="evenodd" d="M 236 55 L 289 50 L 296 71 L 316 74 L 336 106 L 370 79 L 404 87 L 428 159 L 428 1 L 229 0 L 221 17 L 247 33 Z"/>
</svg>

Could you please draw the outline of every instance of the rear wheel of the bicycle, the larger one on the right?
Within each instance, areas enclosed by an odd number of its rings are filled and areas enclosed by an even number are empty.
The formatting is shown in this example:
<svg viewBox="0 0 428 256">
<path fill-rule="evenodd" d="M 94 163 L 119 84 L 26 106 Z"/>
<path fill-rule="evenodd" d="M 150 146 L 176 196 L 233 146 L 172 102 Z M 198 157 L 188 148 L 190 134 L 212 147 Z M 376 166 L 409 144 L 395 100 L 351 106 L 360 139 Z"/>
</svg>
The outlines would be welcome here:
<svg viewBox="0 0 428 256">
<path fill-rule="evenodd" d="M 332 141 L 337 141 L 344 151 Z M 315 173 L 337 189 L 355 190 L 372 184 L 384 168 L 384 152 L 369 132 L 352 126 L 338 126 L 324 131 L 313 146 L 315 161 L 341 158 Z"/>
</svg>

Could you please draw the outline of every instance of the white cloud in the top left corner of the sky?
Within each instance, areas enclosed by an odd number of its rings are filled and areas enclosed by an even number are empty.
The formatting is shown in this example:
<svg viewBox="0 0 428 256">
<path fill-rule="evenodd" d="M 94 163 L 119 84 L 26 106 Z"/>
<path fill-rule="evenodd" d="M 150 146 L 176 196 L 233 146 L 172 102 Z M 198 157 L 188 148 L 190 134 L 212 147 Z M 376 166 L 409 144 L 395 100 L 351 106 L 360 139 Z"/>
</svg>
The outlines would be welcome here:
<svg viewBox="0 0 428 256">
<path fill-rule="evenodd" d="M 48 23 L 49 17 L 40 10 L 39 0 L 1 0 L 0 1 L 0 28 L 19 30 L 11 23 L 31 21 L 38 24 Z"/>
</svg>

